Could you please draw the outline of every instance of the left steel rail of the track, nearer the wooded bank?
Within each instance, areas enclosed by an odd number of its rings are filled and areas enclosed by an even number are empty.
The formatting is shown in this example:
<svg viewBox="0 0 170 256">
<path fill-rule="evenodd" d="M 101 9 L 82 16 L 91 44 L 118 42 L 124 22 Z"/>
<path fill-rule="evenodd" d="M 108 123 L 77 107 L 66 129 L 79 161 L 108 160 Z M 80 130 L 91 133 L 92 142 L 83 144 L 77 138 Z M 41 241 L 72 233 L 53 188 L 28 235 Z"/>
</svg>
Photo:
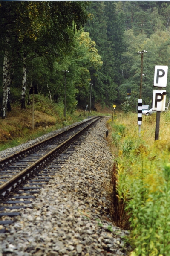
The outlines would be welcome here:
<svg viewBox="0 0 170 256">
<path fill-rule="evenodd" d="M 93 117 L 92 119 L 95 119 L 95 118 L 96 118 L 96 116 Z M 89 119 L 89 120 L 86 121 L 86 122 L 89 122 L 89 121 L 92 120 L 92 119 Z M 62 136 L 62 135 L 65 134 L 65 133 L 68 133 L 68 131 L 71 131 L 71 130 L 75 129 L 75 127 L 78 127 L 78 126 L 80 126 L 80 125 L 82 125 L 82 124 L 84 124 L 84 123 L 86 123 L 86 122 L 82 122 L 81 124 L 74 125 L 74 126 L 72 126 L 71 128 L 68 128 L 68 129 L 65 130 L 65 131 L 62 131 L 62 132 L 60 132 L 60 133 L 58 133 L 58 134 L 53 135 L 52 137 L 49 137 L 48 139 L 45 139 L 45 140 L 40 141 L 40 142 L 38 142 L 38 143 L 36 143 L 36 144 L 34 144 L 34 145 L 31 145 L 31 146 L 29 146 L 28 148 L 24 148 L 24 149 L 22 149 L 22 150 L 19 151 L 19 152 L 16 152 L 16 153 L 14 153 L 14 154 L 9 155 L 8 157 L 2 158 L 2 159 L 0 160 L 0 166 L 1 166 L 1 167 L 4 167 L 4 165 L 6 166 L 8 163 L 12 163 L 12 162 L 15 160 L 14 157 L 17 157 L 17 159 L 18 159 L 18 157 L 23 156 L 24 153 L 26 153 L 26 152 L 29 153 L 29 151 L 32 151 L 33 149 L 36 149 L 38 146 L 43 145 L 43 144 L 49 142 L 50 140 L 55 139 L 56 137 L 60 137 L 60 136 Z"/>
</svg>

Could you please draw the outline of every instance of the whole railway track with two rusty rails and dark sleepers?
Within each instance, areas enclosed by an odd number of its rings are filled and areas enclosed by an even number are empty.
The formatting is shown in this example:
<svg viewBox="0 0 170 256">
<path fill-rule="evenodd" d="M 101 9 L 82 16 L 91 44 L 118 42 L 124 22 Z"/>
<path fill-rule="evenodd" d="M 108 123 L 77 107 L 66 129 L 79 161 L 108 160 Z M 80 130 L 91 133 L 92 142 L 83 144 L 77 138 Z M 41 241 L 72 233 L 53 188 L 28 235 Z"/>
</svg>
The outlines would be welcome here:
<svg viewBox="0 0 170 256">
<path fill-rule="evenodd" d="M 6 225 L 12 224 L 20 215 L 16 209 L 26 208 L 32 203 L 40 189 L 74 151 L 78 137 L 100 118 L 95 117 L 75 125 L 0 160 L 0 218 L 3 218 L 0 225 L 5 225 L 3 229 L 1 227 L 0 233 L 6 232 Z"/>
</svg>

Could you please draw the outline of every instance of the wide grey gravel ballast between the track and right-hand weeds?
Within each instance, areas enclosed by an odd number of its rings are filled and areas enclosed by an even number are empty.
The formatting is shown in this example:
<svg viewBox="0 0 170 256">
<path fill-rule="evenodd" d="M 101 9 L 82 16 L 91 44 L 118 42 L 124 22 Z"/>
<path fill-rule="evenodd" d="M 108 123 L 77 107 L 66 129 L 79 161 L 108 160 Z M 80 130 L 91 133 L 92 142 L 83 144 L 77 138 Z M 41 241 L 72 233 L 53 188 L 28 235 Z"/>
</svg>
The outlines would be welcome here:
<svg viewBox="0 0 170 256">
<path fill-rule="evenodd" d="M 1 255 L 127 255 L 128 232 L 115 227 L 108 212 L 107 119 L 90 128 L 32 204 L 19 210 L 9 232 L 0 234 Z"/>
</svg>

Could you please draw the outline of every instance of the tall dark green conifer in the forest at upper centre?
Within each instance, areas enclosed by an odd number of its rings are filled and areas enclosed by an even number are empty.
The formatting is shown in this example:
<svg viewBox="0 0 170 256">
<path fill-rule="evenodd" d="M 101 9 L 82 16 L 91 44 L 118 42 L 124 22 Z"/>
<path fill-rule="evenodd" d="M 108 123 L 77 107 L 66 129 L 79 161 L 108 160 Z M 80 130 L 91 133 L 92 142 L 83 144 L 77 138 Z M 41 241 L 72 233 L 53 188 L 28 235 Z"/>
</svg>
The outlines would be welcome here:
<svg viewBox="0 0 170 256">
<path fill-rule="evenodd" d="M 117 83 L 121 83 L 123 15 L 116 15 L 114 2 L 93 2 L 89 6 L 92 20 L 85 26 L 102 57 L 103 67 L 92 73 L 94 95 L 109 104 L 117 97 Z"/>
</svg>

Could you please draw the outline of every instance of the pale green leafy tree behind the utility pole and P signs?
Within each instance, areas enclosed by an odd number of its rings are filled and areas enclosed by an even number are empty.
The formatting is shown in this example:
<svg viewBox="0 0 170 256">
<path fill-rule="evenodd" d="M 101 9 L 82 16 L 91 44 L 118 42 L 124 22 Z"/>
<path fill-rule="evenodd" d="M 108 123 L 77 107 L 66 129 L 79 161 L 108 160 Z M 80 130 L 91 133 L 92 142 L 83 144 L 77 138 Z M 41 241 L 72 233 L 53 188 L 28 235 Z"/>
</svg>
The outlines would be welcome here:
<svg viewBox="0 0 170 256">
<path fill-rule="evenodd" d="M 142 99 L 150 105 L 153 97 L 155 65 L 169 66 L 170 64 L 170 32 L 158 31 L 148 38 L 145 34 L 139 34 L 136 37 L 131 29 L 125 32 L 124 41 L 126 41 L 127 51 L 122 56 L 124 82 L 120 86 L 120 90 L 123 94 L 127 88 L 131 88 L 132 96 L 139 96 L 141 54 L 137 53 L 141 49 L 145 49 L 147 53 L 144 54 L 143 61 Z M 169 94 L 169 79 L 167 81 L 167 93 Z"/>
</svg>

